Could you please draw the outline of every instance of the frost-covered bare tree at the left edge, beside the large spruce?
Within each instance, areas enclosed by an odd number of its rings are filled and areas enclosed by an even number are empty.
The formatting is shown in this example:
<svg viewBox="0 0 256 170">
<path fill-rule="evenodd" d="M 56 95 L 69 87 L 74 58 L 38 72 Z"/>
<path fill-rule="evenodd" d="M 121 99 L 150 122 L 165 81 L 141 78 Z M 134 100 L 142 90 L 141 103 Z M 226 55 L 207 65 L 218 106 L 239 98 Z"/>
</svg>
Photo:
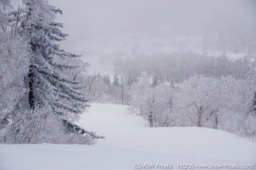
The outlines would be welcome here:
<svg viewBox="0 0 256 170">
<path fill-rule="evenodd" d="M 8 123 L 15 101 L 25 93 L 23 79 L 28 72 L 30 59 L 26 56 L 27 44 L 16 34 L 17 19 L 9 23 L 9 0 L 0 0 L 0 125 Z"/>
</svg>

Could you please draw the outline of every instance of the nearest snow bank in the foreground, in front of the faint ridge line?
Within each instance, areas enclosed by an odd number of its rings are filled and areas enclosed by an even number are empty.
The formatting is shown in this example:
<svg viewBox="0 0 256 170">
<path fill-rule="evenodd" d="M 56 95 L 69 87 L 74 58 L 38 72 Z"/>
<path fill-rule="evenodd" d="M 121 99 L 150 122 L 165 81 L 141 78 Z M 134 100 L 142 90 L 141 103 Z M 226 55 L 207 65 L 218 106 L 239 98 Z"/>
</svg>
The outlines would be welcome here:
<svg viewBox="0 0 256 170">
<path fill-rule="evenodd" d="M 0 145 L 0 149 L 1 170 L 132 170 L 134 163 L 172 164 L 177 169 L 178 164 L 245 163 L 86 145 Z"/>
</svg>

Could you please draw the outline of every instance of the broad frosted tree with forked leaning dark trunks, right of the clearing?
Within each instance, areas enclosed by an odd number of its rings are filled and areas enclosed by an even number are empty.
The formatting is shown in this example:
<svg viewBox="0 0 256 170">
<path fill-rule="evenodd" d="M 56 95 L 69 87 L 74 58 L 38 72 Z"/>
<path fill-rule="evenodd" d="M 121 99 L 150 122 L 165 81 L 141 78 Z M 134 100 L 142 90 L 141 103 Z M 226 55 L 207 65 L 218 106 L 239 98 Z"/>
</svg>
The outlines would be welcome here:
<svg viewBox="0 0 256 170">
<path fill-rule="evenodd" d="M 183 121 L 189 120 L 187 126 L 197 124 L 198 127 L 202 127 L 205 121 L 217 111 L 216 108 L 211 108 L 209 101 L 211 97 L 209 92 L 213 90 L 208 86 L 210 80 L 195 75 L 183 83 L 182 92 L 174 96 L 175 108 L 182 114 Z"/>
</svg>

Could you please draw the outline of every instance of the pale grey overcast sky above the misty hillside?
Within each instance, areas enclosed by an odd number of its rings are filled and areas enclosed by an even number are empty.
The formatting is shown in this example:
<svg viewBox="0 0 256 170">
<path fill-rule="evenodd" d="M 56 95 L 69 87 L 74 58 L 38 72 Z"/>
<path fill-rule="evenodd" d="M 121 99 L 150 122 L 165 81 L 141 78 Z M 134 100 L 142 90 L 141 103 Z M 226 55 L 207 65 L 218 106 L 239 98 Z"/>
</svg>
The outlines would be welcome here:
<svg viewBox="0 0 256 170">
<path fill-rule="evenodd" d="M 16 2 L 15 2 L 16 3 Z M 255 0 L 49 0 L 72 37 L 90 38 L 169 27 L 189 31 L 256 32 Z"/>
</svg>

